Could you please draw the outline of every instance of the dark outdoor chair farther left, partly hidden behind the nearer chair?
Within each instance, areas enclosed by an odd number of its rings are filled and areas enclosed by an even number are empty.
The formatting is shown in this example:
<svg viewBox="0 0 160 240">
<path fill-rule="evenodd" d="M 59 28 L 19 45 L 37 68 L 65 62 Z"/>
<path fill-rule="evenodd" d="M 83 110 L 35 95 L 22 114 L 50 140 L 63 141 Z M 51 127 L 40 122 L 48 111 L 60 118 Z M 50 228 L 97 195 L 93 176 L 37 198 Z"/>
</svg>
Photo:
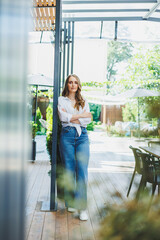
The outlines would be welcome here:
<svg viewBox="0 0 160 240">
<path fill-rule="evenodd" d="M 130 193 L 130 190 L 131 190 L 131 187 L 132 187 L 132 183 L 133 183 L 133 180 L 134 180 L 134 177 L 135 177 L 135 174 L 136 172 L 141 174 L 142 175 L 142 161 L 141 159 L 139 158 L 138 154 L 137 153 L 141 153 L 142 151 L 139 149 L 139 148 L 134 148 L 132 146 L 129 146 L 129 148 L 133 151 L 133 155 L 134 155 L 134 159 L 135 159 L 135 168 L 134 168 L 134 171 L 133 171 L 133 175 L 132 175 L 132 178 L 131 178 L 131 182 L 129 184 L 129 189 L 128 189 L 128 192 L 127 192 L 127 197 L 129 196 L 129 193 Z"/>
</svg>

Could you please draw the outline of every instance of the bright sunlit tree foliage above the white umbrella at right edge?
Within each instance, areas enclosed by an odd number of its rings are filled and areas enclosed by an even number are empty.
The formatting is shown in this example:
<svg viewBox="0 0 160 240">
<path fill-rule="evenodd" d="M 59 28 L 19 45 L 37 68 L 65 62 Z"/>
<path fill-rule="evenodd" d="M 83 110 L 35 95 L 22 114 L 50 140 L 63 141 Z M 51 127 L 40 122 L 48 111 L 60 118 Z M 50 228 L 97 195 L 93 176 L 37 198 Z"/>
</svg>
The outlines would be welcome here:
<svg viewBox="0 0 160 240">
<path fill-rule="evenodd" d="M 116 84 L 120 90 L 134 87 L 160 89 L 160 47 L 140 46 L 128 62 L 125 74 Z"/>
</svg>

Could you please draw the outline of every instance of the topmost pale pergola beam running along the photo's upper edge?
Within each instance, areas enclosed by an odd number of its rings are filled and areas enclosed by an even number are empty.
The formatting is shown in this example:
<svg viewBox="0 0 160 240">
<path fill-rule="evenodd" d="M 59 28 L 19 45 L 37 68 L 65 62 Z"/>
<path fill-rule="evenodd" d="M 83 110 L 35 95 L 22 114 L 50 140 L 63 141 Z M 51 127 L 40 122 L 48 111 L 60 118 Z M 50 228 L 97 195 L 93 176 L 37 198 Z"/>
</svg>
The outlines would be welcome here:
<svg viewBox="0 0 160 240">
<path fill-rule="evenodd" d="M 62 4 L 105 4 L 105 3 L 157 3 L 157 0 L 99 0 L 99 1 L 67 1 L 63 0 Z"/>
</svg>

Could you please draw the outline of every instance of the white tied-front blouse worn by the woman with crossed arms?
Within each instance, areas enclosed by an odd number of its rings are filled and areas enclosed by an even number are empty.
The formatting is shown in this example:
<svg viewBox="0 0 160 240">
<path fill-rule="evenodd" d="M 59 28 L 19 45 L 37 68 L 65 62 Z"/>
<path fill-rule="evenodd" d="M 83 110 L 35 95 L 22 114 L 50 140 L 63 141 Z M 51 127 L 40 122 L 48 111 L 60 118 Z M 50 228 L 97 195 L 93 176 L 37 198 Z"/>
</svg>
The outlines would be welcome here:
<svg viewBox="0 0 160 240">
<path fill-rule="evenodd" d="M 65 109 L 66 112 L 64 112 L 62 109 Z M 79 111 L 74 108 L 72 106 L 72 102 L 68 97 L 63 97 L 60 96 L 58 98 L 58 115 L 59 115 L 59 119 L 62 123 L 63 127 L 67 127 L 67 126 L 71 126 L 71 127 L 75 127 L 78 135 L 81 135 L 81 126 L 82 127 L 87 127 L 87 124 L 89 124 L 91 122 L 91 118 L 79 118 L 79 122 L 80 124 L 77 123 L 72 123 L 70 122 L 72 115 L 73 114 L 81 114 L 86 110 L 86 112 L 90 112 L 89 109 L 89 104 L 88 102 L 85 100 L 85 106 L 82 108 L 80 106 Z"/>
</svg>

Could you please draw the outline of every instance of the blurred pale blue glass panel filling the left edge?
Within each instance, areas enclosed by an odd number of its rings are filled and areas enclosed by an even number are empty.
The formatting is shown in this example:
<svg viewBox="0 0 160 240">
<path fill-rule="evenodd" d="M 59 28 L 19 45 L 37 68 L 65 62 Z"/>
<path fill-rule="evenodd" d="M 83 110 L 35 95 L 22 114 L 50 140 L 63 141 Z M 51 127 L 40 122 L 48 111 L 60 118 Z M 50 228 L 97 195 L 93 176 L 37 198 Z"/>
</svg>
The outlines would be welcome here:
<svg viewBox="0 0 160 240">
<path fill-rule="evenodd" d="M 0 1 L 0 239 L 24 239 L 29 1 Z"/>
</svg>

